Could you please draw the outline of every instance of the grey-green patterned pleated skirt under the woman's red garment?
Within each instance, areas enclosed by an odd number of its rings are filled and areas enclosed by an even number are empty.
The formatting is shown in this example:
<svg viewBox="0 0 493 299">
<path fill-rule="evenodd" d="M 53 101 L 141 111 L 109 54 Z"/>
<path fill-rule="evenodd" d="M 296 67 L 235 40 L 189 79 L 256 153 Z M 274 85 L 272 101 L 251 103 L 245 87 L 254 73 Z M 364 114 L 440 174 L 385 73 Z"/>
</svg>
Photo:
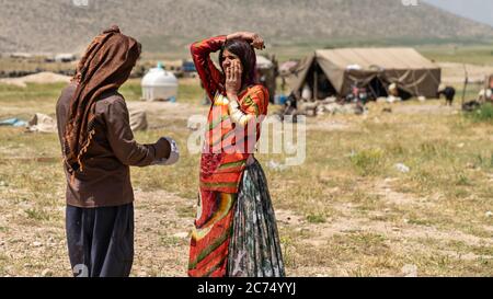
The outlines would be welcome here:
<svg viewBox="0 0 493 299">
<path fill-rule="evenodd" d="M 229 243 L 230 277 L 284 277 L 276 218 L 260 163 L 246 166 L 234 204 Z"/>
</svg>

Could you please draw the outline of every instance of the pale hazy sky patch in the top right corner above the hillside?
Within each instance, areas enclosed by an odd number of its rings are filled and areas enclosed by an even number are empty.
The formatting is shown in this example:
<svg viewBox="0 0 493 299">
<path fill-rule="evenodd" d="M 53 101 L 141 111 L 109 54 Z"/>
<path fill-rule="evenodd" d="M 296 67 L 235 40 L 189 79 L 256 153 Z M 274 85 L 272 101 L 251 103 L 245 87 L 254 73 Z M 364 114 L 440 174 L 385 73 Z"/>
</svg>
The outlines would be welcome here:
<svg viewBox="0 0 493 299">
<path fill-rule="evenodd" d="M 493 26 L 492 0 L 419 0 Z"/>
</svg>

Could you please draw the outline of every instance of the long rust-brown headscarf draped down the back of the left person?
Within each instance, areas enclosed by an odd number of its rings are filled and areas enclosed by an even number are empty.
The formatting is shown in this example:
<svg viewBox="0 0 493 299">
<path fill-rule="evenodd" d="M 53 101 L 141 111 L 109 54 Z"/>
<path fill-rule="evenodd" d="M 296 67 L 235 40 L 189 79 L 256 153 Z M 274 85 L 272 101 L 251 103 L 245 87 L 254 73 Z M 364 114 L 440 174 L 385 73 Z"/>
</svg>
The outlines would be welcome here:
<svg viewBox="0 0 493 299">
<path fill-rule="evenodd" d="M 77 66 L 78 82 L 70 102 L 64 136 L 65 161 L 69 171 L 82 171 L 81 158 L 94 135 L 95 102 L 127 81 L 140 56 L 140 44 L 112 26 L 96 36 Z"/>
</svg>

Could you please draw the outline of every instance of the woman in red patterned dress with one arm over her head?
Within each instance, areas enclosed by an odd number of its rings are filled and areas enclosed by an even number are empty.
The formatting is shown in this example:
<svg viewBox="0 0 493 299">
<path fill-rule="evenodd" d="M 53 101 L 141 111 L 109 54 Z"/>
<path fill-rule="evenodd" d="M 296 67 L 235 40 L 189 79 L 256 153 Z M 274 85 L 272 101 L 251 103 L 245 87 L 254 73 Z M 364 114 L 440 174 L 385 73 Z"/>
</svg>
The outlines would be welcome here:
<svg viewBox="0 0 493 299">
<path fill-rule="evenodd" d="M 265 174 L 253 157 L 268 92 L 255 82 L 254 33 L 207 38 L 191 46 L 211 100 L 200 159 L 199 196 L 188 275 L 285 276 Z M 218 70 L 210 54 L 219 50 Z"/>
</svg>

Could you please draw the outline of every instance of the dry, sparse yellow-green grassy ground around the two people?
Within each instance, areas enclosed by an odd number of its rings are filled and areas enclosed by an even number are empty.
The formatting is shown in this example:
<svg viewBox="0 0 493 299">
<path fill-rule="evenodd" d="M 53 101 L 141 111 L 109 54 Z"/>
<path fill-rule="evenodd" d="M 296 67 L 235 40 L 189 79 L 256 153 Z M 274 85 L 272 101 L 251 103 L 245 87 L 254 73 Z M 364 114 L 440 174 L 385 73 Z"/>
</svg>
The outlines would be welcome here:
<svg viewBox="0 0 493 299">
<path fill-rule="evenodd" d="M 123 89 L 129 100 L 139 94 L 133 84 Z M 0 87 L 0 116 L 53 115 L 59 89 Z M 183 157 L 174 166 L 131 170 L 135 276 L 185 275 L 198 187 L 198 154 L 184 150 L 186 118 L 206 108 L 193 81 L 181 94 L 175 106 L 149 106 L 149 120 L 159 128 L 136 135 L 140 142 L 173 136 Z M 382 113 L 382 105 L 370 104 L 363 117 L 308 119 L 302 166 L 277 171 L 270 161 L 284 156 L 257 156 L 288 275 L 403 276 L 406 265 L 420 276 L 493 275 L 493 217 L 486 214 L 493 210 L 491 123 L 434 101 L 392 110 Z M 1 276 L 70 275 L 59 152 L 56 135 L 0 127 Z"/>
</svg>

